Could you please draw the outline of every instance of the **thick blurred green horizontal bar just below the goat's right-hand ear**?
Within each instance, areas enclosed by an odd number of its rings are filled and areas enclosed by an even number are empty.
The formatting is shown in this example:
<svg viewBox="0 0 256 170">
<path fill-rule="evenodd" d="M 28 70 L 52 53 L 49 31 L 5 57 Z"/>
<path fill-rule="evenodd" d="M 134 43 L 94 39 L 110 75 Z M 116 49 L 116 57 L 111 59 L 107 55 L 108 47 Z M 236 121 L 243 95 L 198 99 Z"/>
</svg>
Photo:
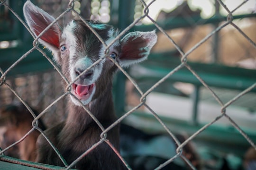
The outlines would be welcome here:
<svg viewBox="0 0 256 170">
<path fill-rule="evenodd" d="M 159 81 L 180 64 L 179 58 L 174 59 L 174 57 L 168 55 L 152 54 L 150 56 L 149 60 L 141 63 L 146 69 L 150 70 L 150 73 L 140 74 L 137 72 L 136 75 L 132 75 L 137 81 L 145 81 L 148 79 Z M 157 59 L 159 60 L 154 60 L 155 56 L 158 56 Z M 161 62 L 162 60 L 164 62 Z M 220 64 L 188 62 L 188 65 L 190 65 L 209 86 L 244 90 L 256 82 L 256 70 L 229 67 Z M 152 72 L 154 72 L 154 74 L 152 74 Z M 175 72 L 167 81 L 181 81 L 199 86 L 202 85 L 186 67 Z M 252 91 L 256 92 L 256 88 Z"/>
</svg>

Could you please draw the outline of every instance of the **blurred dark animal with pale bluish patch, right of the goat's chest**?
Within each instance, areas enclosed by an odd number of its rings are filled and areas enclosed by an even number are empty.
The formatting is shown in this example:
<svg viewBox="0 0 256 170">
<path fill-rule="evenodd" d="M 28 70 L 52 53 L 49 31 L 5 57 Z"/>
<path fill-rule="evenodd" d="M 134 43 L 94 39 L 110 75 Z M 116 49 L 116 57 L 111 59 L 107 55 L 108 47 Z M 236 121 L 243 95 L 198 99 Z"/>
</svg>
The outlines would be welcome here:
<svg viewBox="0 0 256 170">
<path fill-rule="evenodd" d="M 185 134 L 175 134 L 175 136 L 180 143 L 187 139 Z M 120 141 L 122 156 L 132 170 L 154 170 L 174 156 L 178 147 L 168 134 L 146 133 L 126 124 L 121 124 Z M 183 147 L 182 154 L 197 170 L 201 170 L 201 159 L 197 147 L 192 142 Z M 180 159 L 170 162 L 161 170 L 191 170 L 191 167 Z"/>
</svg>

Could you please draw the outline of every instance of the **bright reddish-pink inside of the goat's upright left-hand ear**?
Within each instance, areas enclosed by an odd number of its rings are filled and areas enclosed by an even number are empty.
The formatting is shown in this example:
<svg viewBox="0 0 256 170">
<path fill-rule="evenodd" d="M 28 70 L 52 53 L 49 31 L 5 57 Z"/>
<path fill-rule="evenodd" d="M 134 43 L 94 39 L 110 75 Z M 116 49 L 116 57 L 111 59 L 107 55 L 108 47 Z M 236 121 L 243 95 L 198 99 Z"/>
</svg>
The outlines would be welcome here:
<svg viewBox="0 0 256 170">
<path fill-rule="evenodd" d="M 37 16 L 38 15 L 38 16 Z M 40 14 L 31 15 L 31 18 L 34 20 L 33 31 L 38 36 L 49 24 L 51 24 L 51 20 L 48 18 L 42 17 Z M 44 18 L 42 20 L 38 18 Z M 55 47 L 59 47 L 59 33 L 56 32 L 56 29 L 59 30 L 58 26 L 54 24 L 50 27 L 40 38 L 49 43 L 54 45 Z"/>
</svg>

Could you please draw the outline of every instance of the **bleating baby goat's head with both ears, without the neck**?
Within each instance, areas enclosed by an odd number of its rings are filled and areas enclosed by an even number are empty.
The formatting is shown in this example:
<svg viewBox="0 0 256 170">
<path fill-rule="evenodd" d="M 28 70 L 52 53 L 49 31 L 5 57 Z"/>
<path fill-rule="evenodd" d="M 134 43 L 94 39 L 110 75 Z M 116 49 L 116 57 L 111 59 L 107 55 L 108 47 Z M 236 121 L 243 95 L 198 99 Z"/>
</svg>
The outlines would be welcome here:
<svg viewBox="0 0 256 170">
<path fill-rule="evenodd" d="M 55 18 L 27 1 L 23 8 L 28 26 L 38 36 Z M 113 27 L 87 21 L 108 45 L 119 34 Z M 114 42 L 109 48 L 109 57 L 114 58 L 122 67 L 146 60 L 151 48 L 156 43 L 155 31 L 128 33 L 121 40 Z M 98 98 L 104 86 L 112 81 L 116 65 L 105 57 L 90 69 L 88 67 L 103 57 L 105 46 L 92 33 L 91 29 L 80 20 L 72 20 L 61 29 L 57 23 L 50 27 L 39 38 L 53 54 L 55 61 L 61 66 L 62 72 L 69 82 L 77 76 L 79 79 L 72 85 L 72 93 L 82 104 L 88 104 Z M 86 72 L 84 72 L 87 70 Z M 82 74 L 81 74 L 82 73 Z M 71 97 L 76 105 L 80 105 Z"/>
</svg>

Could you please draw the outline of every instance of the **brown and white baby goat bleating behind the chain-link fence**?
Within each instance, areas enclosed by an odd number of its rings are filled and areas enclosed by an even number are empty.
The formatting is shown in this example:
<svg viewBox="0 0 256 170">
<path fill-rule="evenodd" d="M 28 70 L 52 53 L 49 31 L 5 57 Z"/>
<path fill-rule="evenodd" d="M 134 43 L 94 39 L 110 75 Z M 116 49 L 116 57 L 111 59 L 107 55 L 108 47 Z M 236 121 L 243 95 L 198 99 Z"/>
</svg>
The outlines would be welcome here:
<svg viewBox="0 0 256 170">
<path fill-rule="evenodd" d="M 54 21 L 52 16 L 30 1 L 25 3 L 23 10 L 28 26 L 36 36 Z M 107 45 L 119 34 L 109 25 L 97 24 L 93 21 L 87 23 Z M 110 46 L 109 57 L 115 59 L 122 67 L 142 62 L 146 60 L 156 40 L 155 31 L 128 33 Z M 72 20 L 63 29 L 55 23 L 40 36 L 38 41 L 54 54 L 56 63 L 61 66 L 69 82 L 73 82 L 80 75 L 71 86 L 71 93 L 75 98 L 70 95 L 67 119 L 45 132 L 67 163 L 71 163 L 101 139 L 101 128 L 82 108 L 81 103 L 91 111 L 104 128 L 116 121 L 111 89 L 112 77 L 118 67 L 106 57 L 83 73 L 92 63 L 105 55 L 105 46 L 81 20 Z M 118 126 L 108 132 L 107 139 L 119 150 Z M 40 136 L 37 144 L 38 162 L 63 166 L 44 137 Z M 103 142 L 76 163 L 75 168 L 121 170 L 124 166 L 110 146 Z"/>
</svg>

